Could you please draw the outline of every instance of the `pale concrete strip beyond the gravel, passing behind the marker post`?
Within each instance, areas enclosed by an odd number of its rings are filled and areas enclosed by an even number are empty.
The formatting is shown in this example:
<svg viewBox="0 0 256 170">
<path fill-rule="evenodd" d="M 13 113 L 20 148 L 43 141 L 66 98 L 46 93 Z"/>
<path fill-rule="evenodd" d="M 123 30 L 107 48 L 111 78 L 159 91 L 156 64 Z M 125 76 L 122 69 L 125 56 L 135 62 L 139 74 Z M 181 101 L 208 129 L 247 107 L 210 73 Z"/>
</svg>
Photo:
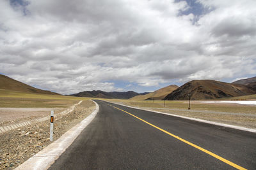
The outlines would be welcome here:
<svg viewBox="0 0 256 170">
<path fill-rule="evenodd" d="M 54 117 L 57 118 L 57 117 L 61 117 L 63 115 L 67 115 L 68 113 L 73 111 L 78 104 L 81 104 L 82 102 L 83 101 L 79 101 L 79 103 L 74 104 L 73 106 L 70 106 L 70 108 L 68 108 L 67 110 L 61 111 L 61 113 L 57 113 Z M 10 131 L 12 129 L 16 129 L 16 128 L 23 127 L 23 126 L 26 126 L 26 125 L 37 124 L 37 123 L 44 122 L 44 121 L 47 121 L 47 120 L 50 120 L 50 117 L 36 118 L 36 119 L 33 119 L 33 120 L 20 122 L 20 123 L 17 123 L 17 124 L 6 125 L 6 126 L 3 126 L 3 127 L 0 127 L 0 133 Z"/>
</svg>

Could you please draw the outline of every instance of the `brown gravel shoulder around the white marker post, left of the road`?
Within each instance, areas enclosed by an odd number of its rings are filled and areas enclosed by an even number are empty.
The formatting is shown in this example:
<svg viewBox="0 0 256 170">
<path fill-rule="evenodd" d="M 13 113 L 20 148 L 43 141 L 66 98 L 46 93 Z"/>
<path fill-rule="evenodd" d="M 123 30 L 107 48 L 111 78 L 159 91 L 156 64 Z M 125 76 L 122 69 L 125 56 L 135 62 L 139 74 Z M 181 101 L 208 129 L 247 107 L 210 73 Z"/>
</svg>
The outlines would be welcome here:
<svg viewBox="0 0 256 170">
<path fill-rule="evenodd" d="M 54 119 L 54 141 L 94 109 L 92 101 L 83 101 L 71 113 Z M 14 169 L 52 143 L 49 141 L 49 127 L 50 123 L 46 121 L 0 134 L 0 169 Z"/>
</svg>

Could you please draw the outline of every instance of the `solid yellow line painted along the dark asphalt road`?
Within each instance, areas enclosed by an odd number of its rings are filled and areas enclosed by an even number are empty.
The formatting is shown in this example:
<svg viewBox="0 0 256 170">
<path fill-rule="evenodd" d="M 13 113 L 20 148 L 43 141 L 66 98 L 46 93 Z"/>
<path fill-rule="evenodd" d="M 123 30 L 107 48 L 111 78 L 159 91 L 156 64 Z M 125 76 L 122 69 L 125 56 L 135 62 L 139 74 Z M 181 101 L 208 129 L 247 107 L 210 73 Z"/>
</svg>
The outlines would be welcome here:
<svg viewBox="0 0 256 170">
<path fill-rule="evenodd" d="M 116 108 L 116 107 L 114 106 L 114 108 Z M 120 108 L 116 108 L 116 109 L 121 110 L 121 111 L 124 111 L 124 110 L 122 110 L 122 109 L 120 109 Z M 157 127 L 156 125 L 150 124 L 150 123 L 148 123 L 147 121 L 145 121 L 145 120 L 143 120 L 143 119 L 141 119 L 141 118 L 139 118 L 139 117 L 136 117 L 135 115 L 132 115 L 131 113 L 129 113 L 129 112 L 127 112 L 127 111 L 124 111 L 124 112 L 125 112 L 125 113 L 128 113 L 128 114 L 131 115 L 132 117 L 138 118 L 138 119 L 141 120 L 142 122 L 145 122 L 146 124 L 151 125 L 152 127 L 155 127 L 156 129 L 158 129 L 158 130 L 160 130 L 160 131 L 162 131 L 162 132 L 164 132 L 164 133 L 166 133 L 166 134 L 172 136 L 173 138 L 179 139 L 180 141 L 182 141 L 182 142 L 184 142 L 184 143 L 186 143 L 186 144 L 188 144 L 188 145 L 190 145 L 190 146 L 193 146 L 193 147 L 197 148 L 198 150 L 201 150 L 202 152 L 205 152 L 205 153 L 211 155 L 212 157 L 215 157 L 216 159 L 219 159 L 219 160 L 225 162 L 226 164 L 228 164 L 228 165 L 230 165 L 230 166 L 232 166 L 232 167 L 236 167 L 237 169 L 245 169 L 244 167 L 238 166 L 237 164 L 234 164 L 233 162 L 230 162 L 229 160 L 224 159 L 223 157 L 220 157 L 219 155 L 216 155 L 215 153 L 212 153 L 212 152 L 210 152 L 210 151 L 208 151 L 208 150 L 205 150 L 204 148 L 201 148 L 200 146 L 197 146 L 197 145 L 195 145 L 195 144 L 193 144 L 193 143 L 190 143 L 189 141 L 186 141 L 185 139 L 182 139 L 182 138 L 180 138 L 179 136 L 176 136 L 176 135 L 174 135 L 174 134 L 172 134 L 172 133 L 170 133 L 170 132 L 167 132 L 167 131 L 165 131 L 164 129 L 161 129 L 160 127 Z"/>
</svg>

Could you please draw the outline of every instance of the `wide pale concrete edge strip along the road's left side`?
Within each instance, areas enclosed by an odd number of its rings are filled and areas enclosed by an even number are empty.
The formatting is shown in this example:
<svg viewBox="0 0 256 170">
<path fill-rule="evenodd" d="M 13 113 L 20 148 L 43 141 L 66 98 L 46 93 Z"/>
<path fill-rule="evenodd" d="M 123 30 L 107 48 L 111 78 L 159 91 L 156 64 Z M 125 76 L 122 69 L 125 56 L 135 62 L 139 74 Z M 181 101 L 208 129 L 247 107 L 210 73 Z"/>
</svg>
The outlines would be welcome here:
<svg viewBox="0 0 256 170">
<path fill-rule="evenodd" d="M 93 103 L 95 102 L 93 101 Z M 15 169 L 48 169 L 54 163 L 54 161 L 58 159 L 63 152 L 65 152 L 68 146 L 73 143 L 83 129 L 92 122 L 93 118 L 95 118 L 99 112 L 99 105 L 97 103 L 95 103 L 95 105 L 95 110 L 88 117 L 84 118 L 82 122 L 72 127 L 58 140 L 54 141 L 54 143 L 46 146 L 43 150 L 36 153 L 36 155 L 29 158 L 26 162 Z"/>
</svg>

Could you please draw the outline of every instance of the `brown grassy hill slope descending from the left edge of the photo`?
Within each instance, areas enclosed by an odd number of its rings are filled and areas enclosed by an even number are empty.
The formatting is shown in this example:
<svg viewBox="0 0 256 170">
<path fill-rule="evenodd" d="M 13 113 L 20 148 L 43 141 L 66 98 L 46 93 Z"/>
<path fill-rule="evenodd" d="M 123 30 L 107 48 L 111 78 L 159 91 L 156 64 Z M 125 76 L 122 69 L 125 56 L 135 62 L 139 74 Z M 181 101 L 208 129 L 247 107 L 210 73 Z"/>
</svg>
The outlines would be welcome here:
<svg viewBox="0 0 256 170">
<path fill-rule="evenodd" d="M 25 83 L 14 80 L 8 76 L 4 76 L 3 74 L 0 74 L 0 89 L 28 93 L 60 95 L 58 93 L 50 92 L 47 90 L 36 89 L 35 87 L 26 85 Z"/>
</svg>

